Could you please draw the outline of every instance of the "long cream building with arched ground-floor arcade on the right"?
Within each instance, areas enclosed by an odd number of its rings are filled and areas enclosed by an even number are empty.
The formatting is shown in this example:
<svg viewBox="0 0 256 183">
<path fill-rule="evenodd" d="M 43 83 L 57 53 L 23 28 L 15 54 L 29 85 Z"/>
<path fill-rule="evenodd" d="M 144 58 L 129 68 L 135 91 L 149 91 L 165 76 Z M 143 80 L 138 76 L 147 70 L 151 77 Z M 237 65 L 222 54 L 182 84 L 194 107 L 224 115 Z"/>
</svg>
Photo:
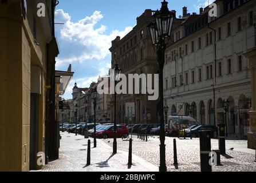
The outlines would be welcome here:
<svg viewBox="0 0 256 183">
<path fill-rule="evenodd" d="M 246 138 L 252 93 L 244 54 L 255 49 L 256 3 L 215 3 L 217 17 L 208 16 L 206 7 L 173 30 L 175 42 L 166 50 L 164 66 L 165 104 L 170 115 L 192 116 L 200 124 L 224 123 L 229 137 Z"/>
</svg>

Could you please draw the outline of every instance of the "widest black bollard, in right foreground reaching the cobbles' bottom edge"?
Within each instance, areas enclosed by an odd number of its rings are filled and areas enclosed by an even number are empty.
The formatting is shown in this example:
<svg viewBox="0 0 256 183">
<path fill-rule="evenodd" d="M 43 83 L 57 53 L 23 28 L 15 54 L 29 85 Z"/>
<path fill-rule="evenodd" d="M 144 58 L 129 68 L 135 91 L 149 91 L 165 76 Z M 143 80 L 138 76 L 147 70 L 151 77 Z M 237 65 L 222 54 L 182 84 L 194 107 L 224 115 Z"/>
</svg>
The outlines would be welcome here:
<svg viewBox="0 0 256 183">
<path fill-rule="evenodd" d="M 199 131 L 201 172 L 212 172 L 209 156 L 211 153 L 211 130 Z"/>
</svg>

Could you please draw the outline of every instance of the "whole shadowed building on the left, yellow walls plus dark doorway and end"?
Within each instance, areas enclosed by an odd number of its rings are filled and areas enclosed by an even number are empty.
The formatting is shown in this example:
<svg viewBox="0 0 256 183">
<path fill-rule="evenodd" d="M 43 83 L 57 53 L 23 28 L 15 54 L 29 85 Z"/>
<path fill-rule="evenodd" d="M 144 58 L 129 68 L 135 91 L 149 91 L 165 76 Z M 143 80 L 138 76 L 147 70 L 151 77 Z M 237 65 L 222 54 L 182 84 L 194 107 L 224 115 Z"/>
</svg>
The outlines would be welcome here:
<svg viewBox="0 0 256 183">
<path fill-rule="evenodd" d="M 38 169 L 37 153 L 56 158 L 55 57 L 56 1 L 0 2 L 0 171 Z M 56 138 L 57 139 L 57 138 Z"/>
</svg>

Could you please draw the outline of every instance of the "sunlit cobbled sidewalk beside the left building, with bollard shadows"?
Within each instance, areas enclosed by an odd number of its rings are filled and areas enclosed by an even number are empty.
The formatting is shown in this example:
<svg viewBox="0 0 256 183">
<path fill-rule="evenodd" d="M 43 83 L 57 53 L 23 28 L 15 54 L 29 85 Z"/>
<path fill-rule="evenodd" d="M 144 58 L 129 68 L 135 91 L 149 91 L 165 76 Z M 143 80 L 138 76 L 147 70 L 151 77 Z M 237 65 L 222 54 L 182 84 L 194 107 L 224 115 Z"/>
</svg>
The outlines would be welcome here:
<svg viewBox="0 0 256 183">
<path fill-rule="evenodd" d="M 49 162 L 40 171 L 43 172 L 155 172 L 157 166 L 133 156 L 133 165 L 128 167 L 128 153 L 118 151 L 112 155 L 112 148 L 97 139 L 97 148 L 93 148 L 91 140 L 91 165 L 86 165 L 87 142 L 83 136 L 72 133 L 61 133 L 60 158 Z"/>
</svg>

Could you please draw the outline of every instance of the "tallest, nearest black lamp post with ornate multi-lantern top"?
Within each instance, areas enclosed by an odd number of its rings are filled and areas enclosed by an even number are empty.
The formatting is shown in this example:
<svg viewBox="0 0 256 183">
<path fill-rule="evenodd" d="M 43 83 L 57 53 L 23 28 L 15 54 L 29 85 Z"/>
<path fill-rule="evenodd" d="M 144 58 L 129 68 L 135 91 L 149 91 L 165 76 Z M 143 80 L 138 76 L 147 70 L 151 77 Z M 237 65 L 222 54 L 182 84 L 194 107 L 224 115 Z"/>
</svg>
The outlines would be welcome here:
<svg viewBox="0 0 256 183">
<path fill-rule="evenodd" d="M 163 117 L 163 68 L 164 68 L 164 52 L 166 50 L 167 43 L 171 37 L 172 23 L 175 18 L 175 11 L 168 9 L 168 2 L 165 0 L 162 2 L 160 10 L 155 11 L 153 14 L 155 21 L 149 23 L 149 32 L 151 34 L 153 46 L 157 46 L 157 62 L 159 66 L 159 93 L 160 93 L 160 172 L 166 172 L 166 145 L 164 134 L 164 117 Z"/>
</svg>

